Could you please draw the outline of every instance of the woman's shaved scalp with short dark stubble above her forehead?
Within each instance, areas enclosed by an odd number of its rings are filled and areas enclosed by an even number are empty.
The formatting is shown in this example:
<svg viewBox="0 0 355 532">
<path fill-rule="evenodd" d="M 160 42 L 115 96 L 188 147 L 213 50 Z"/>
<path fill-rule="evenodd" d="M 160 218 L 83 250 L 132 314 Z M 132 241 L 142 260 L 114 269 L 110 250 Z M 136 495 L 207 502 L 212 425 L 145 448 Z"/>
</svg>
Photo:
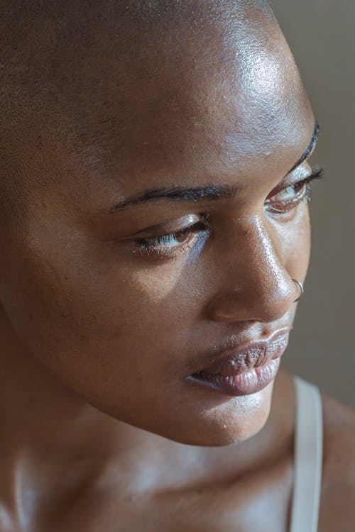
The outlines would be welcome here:
<svg viewBox="0 0 355 532">
<path fill-rule="evenodd" d="M 191 112 L 198 127 L 214 98 L 209 66 L 216 87 L 224 72 L 234 85 L 246 49 L 272 47 L 271 31 L 280 38 L 263 0 L 1 2 L 1 180 L 13 187 L 23 150 L 48 144 L 102 165 L 126 150 L 138 113 L 165 113 L 163 131 Z"/>
</svg>

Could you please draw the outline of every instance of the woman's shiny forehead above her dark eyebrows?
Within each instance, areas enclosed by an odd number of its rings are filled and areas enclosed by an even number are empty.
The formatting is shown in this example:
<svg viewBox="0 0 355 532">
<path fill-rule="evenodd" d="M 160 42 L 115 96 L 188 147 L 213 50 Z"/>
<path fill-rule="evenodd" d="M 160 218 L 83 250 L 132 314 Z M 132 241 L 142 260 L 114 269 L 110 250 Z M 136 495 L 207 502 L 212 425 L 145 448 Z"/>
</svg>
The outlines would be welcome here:
<svg viewBox="0 0 355 532">
<path fill-rule="evenodd" d="M 168 170 L 176 182 L 188 170 L 208 179 L 221 167 L 263 172 L 273 156 L 293 166 L 314 118 L 288 45 L 261 13 L 227 30 L 174 29 L 138 60 L 127 56 L 107 143 L 112 161 L 121 154 L 121 174 L 144 179 L 149 169 L 166 182 Z"/>
</svg>

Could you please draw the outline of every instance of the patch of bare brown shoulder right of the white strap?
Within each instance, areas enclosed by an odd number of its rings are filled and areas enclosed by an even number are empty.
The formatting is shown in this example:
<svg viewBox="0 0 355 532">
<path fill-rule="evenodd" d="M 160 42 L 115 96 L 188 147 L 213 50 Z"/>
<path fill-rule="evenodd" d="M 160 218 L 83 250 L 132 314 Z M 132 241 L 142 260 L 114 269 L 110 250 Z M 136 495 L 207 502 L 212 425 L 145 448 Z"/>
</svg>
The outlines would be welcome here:
<svg viewBox="0 0 355 532">
<path fill-rule="evenodd" d="M 355 530 L 355 411 L 322 393 L 320 532 Z"/>
</svg>

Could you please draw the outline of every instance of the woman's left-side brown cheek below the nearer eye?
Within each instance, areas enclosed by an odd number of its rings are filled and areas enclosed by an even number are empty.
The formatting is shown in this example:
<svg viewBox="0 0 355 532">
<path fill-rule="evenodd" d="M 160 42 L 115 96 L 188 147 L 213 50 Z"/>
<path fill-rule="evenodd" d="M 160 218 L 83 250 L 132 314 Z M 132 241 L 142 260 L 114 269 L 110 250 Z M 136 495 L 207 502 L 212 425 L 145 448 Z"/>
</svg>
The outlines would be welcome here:
<svg viewBox="0 0 355 532">
<path fill-rule="evenodd" d="M 1 304 L 18 338 L 103 409 L 131 394 L 132 382 L 149 397 L 191 321 L 183 265 L 123 260 L 73 231 L 33 234 L 17 235 L 1 267 Z"/>
</svg>

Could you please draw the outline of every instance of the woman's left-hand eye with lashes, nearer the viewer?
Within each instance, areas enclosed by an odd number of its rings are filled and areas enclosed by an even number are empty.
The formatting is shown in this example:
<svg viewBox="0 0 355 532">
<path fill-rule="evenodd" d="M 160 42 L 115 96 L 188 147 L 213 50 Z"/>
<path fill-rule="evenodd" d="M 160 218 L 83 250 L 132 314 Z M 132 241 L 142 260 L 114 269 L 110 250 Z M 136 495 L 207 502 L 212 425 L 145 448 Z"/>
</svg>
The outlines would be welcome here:
<svg viewBox="0 0 355 532">
<path fill-rule="evenodd" d="M 182 228 L 181 231 L 167 233 L 166 235 L 155 238 L 140 238 L 136 240 L 136 250 L 134 253 L 138 252 L 141 255 L 148 255 L 164 260 L 173 258 L 178 253 L 184 253 L 194 248 L 198 242 L 201 242 L 202 236 L 206 239 L 210 233 L 207 223 L 208 215 L 201 216 L 201 221 Z"/>
</svg>

